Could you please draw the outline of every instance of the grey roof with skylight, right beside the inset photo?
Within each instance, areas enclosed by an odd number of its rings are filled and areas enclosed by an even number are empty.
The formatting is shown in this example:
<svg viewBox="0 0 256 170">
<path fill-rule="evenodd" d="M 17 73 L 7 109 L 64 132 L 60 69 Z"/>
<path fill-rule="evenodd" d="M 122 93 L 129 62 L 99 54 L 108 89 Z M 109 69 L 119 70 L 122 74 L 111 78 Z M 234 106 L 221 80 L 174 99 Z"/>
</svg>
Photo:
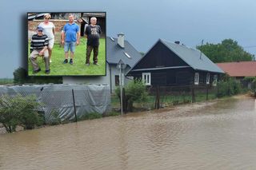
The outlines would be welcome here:
<svg viewBox="0 0 256 170">
<path fill-rule="evenodd" d="M 128 56 L 126 55 L 128 54 Z M 109 64 L 118 64 L 120 59 L 130 67 L 134 67 L 138 60 L 142 58 L 133 45 L 125 40 L 125 47 L 118 45 L 118 38 L 106 37 L 106 61 Z"/>
</svg>

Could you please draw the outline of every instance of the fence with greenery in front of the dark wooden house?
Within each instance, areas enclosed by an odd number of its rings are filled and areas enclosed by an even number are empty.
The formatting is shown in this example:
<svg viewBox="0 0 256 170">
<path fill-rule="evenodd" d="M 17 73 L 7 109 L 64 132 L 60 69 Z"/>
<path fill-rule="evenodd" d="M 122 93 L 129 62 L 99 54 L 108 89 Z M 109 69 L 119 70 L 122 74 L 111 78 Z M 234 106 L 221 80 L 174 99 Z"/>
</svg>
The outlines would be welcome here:
<svg viewBox="0 0 256 170">
<path fill-rule="evenodd" d="M 123 91 L 126 91 L 124 89 Z M 172 105 L 180 105 L 186 103 L 194 103 L 200 101 L 208 101 L 218 97 L 218 87 L 212 85 L 165 85 L 165 86 L 150 86 L 147 88 L 148 97 L 146 101 L 135 101 L 133 103 L 134 109 L 159 109 L 162 107 L 169 107 Z M 112 97 L 114 101 L 114 107 L 119 109 L 120 100 L 118 97 Z M 126 101 L 128 97 L 123 97 L 123 101 Z M 123 102 L 124 112 L 130 112 L 132 108 L 129 108 L 129 102 Z"/>
</svg>

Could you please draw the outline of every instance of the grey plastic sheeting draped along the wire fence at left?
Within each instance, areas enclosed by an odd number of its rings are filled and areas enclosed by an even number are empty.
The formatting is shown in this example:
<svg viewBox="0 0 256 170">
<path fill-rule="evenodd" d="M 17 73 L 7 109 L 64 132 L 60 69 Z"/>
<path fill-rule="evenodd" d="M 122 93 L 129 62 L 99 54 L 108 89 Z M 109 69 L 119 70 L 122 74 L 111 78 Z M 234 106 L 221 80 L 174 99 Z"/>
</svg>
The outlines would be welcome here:
<svg viewBox="0 0 256 170">
<path fill-rule="evenodd" d="M 74 101 L 72 89 L 74 90 Z M 110 112 L 109 85 L 15 85 L 0 86 L 0 96 L 34 94 L 42 103 L 38 109 L 45 115 L 46 123 L 58 118 L 61 121 L 74 120 L 74 103 L 77 117 L 86 113 Z"/>
</svg>

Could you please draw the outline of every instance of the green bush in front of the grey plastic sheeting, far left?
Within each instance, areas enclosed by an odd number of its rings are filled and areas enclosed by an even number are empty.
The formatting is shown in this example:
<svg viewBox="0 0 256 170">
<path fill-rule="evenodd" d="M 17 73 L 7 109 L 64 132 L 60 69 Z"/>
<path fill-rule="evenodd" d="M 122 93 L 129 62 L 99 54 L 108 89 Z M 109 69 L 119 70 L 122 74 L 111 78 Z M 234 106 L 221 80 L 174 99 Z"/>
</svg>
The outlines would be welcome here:
<svg viewBox="0 0 256 170">
<path fill-rule="evenodd" d="M 4 95 L 0 98 L 0 123 L 7 132 L 15 132 L 18 125 L 25 129 L 34 128 L 42 124 L 37 108 L 41 105 L 34 95 L 22 97 L 18 94 L 14 97 Z"/>
</svg>

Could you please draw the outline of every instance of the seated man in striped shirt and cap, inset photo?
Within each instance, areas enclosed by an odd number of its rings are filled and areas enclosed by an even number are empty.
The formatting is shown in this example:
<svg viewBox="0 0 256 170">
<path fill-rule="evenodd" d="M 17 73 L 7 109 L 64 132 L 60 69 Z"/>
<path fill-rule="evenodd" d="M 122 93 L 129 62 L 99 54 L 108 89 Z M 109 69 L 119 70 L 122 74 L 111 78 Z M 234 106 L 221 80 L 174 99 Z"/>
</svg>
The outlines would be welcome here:
<svg viewBox="0 0 256 170">
<path fill-rule="evenodd" d="M 46 74 L 50 73 L 50 62 L 49 62 L 49 53 L 48 53 L 48 44 L 49 40 L 47 38 L 47 35 L 42 34 L 43 28 L 41 26 L 38 26 L 37 28 L 37 34 L 34 34 L 31 38 L 30 43 L 30 61 L 33 66 L 33 73 L 38 73 L 41 71 L 40 67 L 37 63 L 37 57 L 42 56 L 45 61 L 45 67 L 46 67 Z"/>
</svg>

